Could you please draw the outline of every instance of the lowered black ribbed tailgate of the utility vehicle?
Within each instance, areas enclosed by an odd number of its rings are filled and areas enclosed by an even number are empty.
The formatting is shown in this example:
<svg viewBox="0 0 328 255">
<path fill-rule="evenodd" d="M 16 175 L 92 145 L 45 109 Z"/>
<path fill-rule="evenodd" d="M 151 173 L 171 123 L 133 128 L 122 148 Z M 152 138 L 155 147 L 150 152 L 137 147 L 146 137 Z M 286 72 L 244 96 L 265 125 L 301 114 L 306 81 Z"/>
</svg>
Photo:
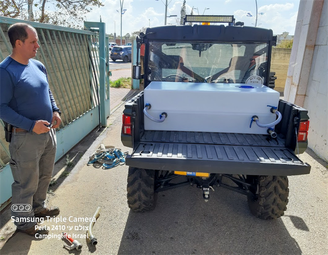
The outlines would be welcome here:
<svg viewBox="0 0 328 255">
<path fill-rule="evenodd" d="M 137 168 L 246 175 L 310 173 L 287 148 L 181 143 L 140 143 L 126 164 Z"/>
</svg>

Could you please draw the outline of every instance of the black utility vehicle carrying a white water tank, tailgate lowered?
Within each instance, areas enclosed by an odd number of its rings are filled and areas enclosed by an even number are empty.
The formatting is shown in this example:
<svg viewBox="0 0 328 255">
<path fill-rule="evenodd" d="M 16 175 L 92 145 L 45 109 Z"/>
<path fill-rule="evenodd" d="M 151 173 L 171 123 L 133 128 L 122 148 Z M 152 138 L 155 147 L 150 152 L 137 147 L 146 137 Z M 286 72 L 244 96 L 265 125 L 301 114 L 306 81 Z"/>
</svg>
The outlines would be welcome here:
<svg viewBox="0 0 328 255">
<path fill-rule="evenodd" d="M 136 40 L 133 79 L 145 89 L 123 112 L 121 139 L 133 148 L 128 205 L 150 211 L 158 192 L 184 185 L 208 201 L 223 187 L 245 194 L 253 215 L 276 219 L 288 203 L 287 176 L 311 168 L 296 156 L 308 145 L 308 111 L 274 91 L 276 37 L 233 16 L 184 22 L 210 25 L 148 28 Z"/>
</svg>

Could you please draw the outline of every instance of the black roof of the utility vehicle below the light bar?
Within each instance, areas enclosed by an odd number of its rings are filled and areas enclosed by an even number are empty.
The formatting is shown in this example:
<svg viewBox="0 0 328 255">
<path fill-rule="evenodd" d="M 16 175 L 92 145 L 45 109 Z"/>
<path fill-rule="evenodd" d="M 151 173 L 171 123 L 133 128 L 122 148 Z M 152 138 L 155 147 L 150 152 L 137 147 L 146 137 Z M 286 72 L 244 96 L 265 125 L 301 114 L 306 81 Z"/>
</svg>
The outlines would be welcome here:
<svg viewBox="0 0 328 255">
<path fill-rule="evenodd" d="M 174 41 L 275 41 L 271 29 L 232 25 L 166 25 L 147 28 L 144 39 Z"/>
</svg>

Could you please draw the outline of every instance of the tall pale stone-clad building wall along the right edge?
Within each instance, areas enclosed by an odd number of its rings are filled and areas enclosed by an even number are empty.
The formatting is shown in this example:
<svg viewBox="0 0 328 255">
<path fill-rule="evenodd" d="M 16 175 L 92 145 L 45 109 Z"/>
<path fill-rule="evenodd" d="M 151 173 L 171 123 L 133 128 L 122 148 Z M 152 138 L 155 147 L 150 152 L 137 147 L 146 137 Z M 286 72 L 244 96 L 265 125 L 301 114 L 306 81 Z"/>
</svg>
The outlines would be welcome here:
<svg viewBox="0 0 328 255">
<path fill-rule="evenodd" d="M 309 111 L 309 147 L 328 161 L 328 0 L 300 1 L 284 91 Z"/>
</svg>

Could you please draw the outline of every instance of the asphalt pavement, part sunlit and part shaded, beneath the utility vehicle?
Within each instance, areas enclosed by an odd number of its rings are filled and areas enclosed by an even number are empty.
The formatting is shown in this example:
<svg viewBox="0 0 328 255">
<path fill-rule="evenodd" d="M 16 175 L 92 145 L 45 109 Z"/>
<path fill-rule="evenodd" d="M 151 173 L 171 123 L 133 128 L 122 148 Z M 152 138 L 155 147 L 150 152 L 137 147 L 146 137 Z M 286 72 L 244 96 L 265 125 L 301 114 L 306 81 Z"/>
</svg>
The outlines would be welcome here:
<svg viewBox="0 0 328 255">
<path fill-rule="evenodd" d="M 50 196 L 51 205 L 60 206 L 62 217 L 90 217 L 98 206 L 102 208 L 93 227 L 98 245 L 91 246 L 79 238 L 82 251 L 67 251 L 62 240 L 36 240 L 17 233 L 0 254 L 328 254 L 327 163 L 310 150 L 300 158 L 312 166 L 311 173 L 289 177 L 288 210 L 277 220 L 255 218 L 249 212 L 246 196 L 241 194 L 216 188 L 204 202 L 201 190 L 189 186 L 159 193 L 152 212 L 131 212 L 126 202 L 128 167 L 103 170 L 86 166 L 88 157 L 101 143 L 131 152 L 120 138 L 123 109 L 110 116 L 107 131 L 89 146 L 54 190 L 55 195 Z M 75 150 L 81 149 L 77 146 Z"/>
</svg>

